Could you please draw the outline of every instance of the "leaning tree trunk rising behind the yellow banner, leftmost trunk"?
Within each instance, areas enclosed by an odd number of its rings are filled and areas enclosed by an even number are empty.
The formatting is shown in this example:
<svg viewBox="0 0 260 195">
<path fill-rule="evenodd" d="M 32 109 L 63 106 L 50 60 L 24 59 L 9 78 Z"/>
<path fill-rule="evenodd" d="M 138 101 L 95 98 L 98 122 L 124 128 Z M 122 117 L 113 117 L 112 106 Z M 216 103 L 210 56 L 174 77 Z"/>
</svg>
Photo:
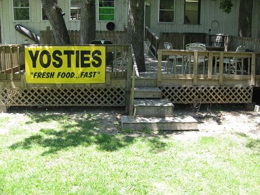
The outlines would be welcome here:
<svg viewBox="0 0 260 195">
<path fill-rule="evenodd" d="M 70 38 L 60 7 L 54 0 L 41 0 L 42 8 L 52 26 L 56 43 L 70 44 Z"/>
</svg>

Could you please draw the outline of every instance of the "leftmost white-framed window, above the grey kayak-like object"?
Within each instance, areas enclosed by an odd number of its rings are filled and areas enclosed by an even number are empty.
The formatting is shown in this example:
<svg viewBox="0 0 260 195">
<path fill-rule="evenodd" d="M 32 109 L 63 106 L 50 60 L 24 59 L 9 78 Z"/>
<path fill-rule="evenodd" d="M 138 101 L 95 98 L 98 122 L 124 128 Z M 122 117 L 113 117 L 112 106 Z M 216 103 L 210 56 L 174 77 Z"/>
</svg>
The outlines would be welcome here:
<svg viewBox="0 0 260 195">
<path fill-rule="evenodd" d="M 30 1 L 13 0 L 14 20 L 30 20 Z"/>
</svg>

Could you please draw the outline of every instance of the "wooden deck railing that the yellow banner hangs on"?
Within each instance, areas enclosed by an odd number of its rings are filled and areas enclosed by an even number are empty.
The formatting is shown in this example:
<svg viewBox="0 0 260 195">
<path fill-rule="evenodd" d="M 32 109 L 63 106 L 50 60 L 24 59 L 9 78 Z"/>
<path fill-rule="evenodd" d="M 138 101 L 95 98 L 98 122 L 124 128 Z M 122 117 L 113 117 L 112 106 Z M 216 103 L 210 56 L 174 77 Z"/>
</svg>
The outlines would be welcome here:
<svg viewBox="0 0 260 195">
<path fill-rule="evenodd" d="M 106 54 L 111 55 L 109 61 L 106 61 L 106 66 L 109 69 L 106 73 L 106 79 L 110 80 L 110 77 L 124 78 L 124 64 L 127 62 L 126 59 L 133 58 L 129 44 L 109 44 L 97 46 L 105 46 Z M 0 45 L 0 80 L 20 80 L 20 75 L 24 75 L 24 47 L 25 45 Z"/>
</svg>

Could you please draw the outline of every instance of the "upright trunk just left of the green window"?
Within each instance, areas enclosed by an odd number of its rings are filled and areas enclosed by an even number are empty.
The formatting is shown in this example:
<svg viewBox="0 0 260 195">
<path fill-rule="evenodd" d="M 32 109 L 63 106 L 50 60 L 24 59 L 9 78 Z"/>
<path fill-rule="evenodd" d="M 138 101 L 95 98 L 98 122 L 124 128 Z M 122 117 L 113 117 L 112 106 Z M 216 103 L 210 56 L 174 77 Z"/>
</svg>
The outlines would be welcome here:
<svg viewBox="0 0 260 195">
<path fill-rule="evenodd" d="M 95 0 L 81 0 L 79 43 L 90 43 L 96 39 Z"/>
</svg>

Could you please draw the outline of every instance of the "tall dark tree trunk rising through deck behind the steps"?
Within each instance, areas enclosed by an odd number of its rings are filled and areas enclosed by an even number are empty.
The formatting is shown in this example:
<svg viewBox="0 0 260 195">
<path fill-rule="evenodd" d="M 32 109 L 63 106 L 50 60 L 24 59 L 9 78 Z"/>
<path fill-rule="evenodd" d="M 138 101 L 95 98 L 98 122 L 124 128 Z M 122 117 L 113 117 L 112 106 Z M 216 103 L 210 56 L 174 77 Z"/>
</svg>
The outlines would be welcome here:
<svg viewBox="0 0 260 195">
<path fill-rule="evenodd" d="M 143 34 L 144 0 L 129 0 L 128 42 L 132 44 L 139 72 L 145 72 Z"/>
</svg>

